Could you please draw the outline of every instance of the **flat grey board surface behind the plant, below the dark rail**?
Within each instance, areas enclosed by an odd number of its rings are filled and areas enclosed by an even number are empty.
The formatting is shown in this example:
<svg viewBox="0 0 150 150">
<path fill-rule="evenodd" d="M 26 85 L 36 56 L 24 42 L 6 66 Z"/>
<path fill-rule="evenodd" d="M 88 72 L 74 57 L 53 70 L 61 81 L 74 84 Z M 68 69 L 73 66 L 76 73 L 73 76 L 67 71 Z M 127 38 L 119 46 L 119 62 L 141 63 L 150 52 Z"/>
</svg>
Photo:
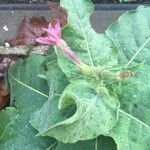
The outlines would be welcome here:
<svg viewBox="0 0 150 150">
<path fill-rule="evenodd" d="M 95 11 L 91 16 L 93 28 L 100 33 L 114 20 L 116 20 L 124 11 Z M 17 33 L 18 27 L 24 16 L 45 16 L 47 19 L 52 17 L 50 11 L 6 11 L 0 10 L 0 44 L 5 40 L 11 39 Z M 9 31 L 4 31 L 3 27 L 7 26 Z"/>
</svg>

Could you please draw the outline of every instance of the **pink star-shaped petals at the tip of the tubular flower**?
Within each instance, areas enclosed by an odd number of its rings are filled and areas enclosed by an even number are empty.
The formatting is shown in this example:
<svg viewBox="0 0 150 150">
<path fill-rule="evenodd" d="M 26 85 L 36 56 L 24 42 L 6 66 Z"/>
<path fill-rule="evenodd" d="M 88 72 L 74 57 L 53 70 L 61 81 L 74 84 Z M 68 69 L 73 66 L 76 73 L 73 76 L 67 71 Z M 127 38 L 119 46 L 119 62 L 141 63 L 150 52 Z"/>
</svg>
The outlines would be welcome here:
<svg viewBox="0 0 150 150">
<path fill-rule="evenodd" d="M 53 27 L 51 23 L 49 23 L 47 29 L 42 29 L 47 32 L 47 36 L 37 38 L 37 42 L 46 45 L 56 45 L 56 43 L 59 43 L 61 39 L 61 27 L 59 21 L 57 21 L 57 23 Z"/>
</svg>

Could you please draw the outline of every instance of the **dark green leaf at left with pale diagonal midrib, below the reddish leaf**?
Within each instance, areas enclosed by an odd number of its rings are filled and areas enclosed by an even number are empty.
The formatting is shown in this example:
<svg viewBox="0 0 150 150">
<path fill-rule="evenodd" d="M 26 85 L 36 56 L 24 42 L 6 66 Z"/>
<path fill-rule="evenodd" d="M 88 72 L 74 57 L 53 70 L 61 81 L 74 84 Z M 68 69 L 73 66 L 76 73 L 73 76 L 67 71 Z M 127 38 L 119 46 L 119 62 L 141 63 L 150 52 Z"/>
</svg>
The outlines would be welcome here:
<svg viewBox="0 0 150 150">
<path fill-rule="evenodd" d="M 21 114 L 30 114 L 48 99 L 47 81 L 38 77 L 39 74 L 46 73 L 42 66 L 44 61 L 44 57 L 32 55 L 25 61 L 17 61 L 9 69 L 11 101 L 14 101 Z"/>
</svg>

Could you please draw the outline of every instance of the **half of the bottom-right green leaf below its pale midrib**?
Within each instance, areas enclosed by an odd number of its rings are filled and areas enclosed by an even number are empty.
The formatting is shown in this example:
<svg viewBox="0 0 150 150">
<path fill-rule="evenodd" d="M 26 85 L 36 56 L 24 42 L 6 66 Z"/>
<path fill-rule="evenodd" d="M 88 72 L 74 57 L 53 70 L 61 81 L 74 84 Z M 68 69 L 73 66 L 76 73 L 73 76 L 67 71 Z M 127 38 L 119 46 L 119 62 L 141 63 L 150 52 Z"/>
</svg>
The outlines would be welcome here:
<svg viewBox="0 0 150 150">
<path fill-rule="evenodd" d="M 149 150 L 150 127 L 125 111 L 120 110 L 119 120 L 110 136 L 118 150 Z"/>
</svg>

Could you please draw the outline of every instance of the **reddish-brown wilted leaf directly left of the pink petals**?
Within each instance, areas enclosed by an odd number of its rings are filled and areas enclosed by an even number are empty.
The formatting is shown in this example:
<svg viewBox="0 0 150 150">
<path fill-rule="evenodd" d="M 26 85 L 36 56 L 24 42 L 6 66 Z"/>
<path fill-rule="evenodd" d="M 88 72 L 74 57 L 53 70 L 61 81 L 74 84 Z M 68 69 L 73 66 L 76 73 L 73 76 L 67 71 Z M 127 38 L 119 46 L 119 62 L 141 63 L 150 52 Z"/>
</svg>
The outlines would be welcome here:
<svg viewBox="0 0 150 150">
<path fill-rule="evenodd" d="M 44 17 L 25 17 L 20 25 L 19 34 L 9 41 L 13 46 L 17 45 L 35 45 L 36 38 L 45 35 L 42 28 L 46 28 L 48 22 Z"/>
</svg>

